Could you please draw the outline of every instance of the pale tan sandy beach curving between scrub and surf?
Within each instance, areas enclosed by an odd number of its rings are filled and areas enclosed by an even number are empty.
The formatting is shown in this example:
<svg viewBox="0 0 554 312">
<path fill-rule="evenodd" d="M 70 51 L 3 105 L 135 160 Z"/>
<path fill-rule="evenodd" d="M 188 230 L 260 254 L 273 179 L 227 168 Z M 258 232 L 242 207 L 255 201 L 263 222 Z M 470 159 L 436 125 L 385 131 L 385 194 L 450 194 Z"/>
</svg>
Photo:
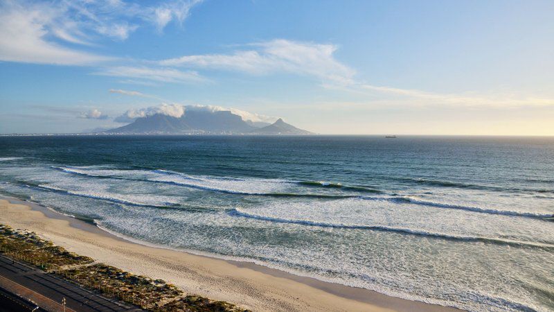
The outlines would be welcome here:
<svg viewBox="0 0 554 312">
<path fill-rule="evenodd" d="M 3 205 L 2 200 L 8 204 Z M 0 211 L 0 222 L 37 232 L 67 250 L 129 272 L 166 279 L 186 293 L 254 311 L 460 311 L 294 275 L 253 262 L 125 239 L 84 220 L 8 196 L 0 196 Z"/>
</svg>

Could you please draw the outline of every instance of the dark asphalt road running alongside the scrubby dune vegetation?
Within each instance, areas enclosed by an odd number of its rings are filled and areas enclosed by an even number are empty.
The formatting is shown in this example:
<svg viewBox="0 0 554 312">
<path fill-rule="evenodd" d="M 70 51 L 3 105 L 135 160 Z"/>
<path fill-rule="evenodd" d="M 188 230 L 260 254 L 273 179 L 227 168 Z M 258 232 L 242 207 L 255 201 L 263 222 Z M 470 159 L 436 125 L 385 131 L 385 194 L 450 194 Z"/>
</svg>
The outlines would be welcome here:
<svg viewBox="0 0 554 312">
<path fill-rule="evenodd" d="M 3 254 L 0 254 L 0 276 L 14 281 L 34 293 L 48 297 L 53 302 L 62 302 L 62 298 L 65 298 L 66 306 L 74 311 L 141 311 L 136 307 L 103 297 L 19 261 L 12 261 Z M 11 290 L 9 292 L 13 293 Z M 21 311 L 27 310 L 22 309 Z"/>
</svg>

